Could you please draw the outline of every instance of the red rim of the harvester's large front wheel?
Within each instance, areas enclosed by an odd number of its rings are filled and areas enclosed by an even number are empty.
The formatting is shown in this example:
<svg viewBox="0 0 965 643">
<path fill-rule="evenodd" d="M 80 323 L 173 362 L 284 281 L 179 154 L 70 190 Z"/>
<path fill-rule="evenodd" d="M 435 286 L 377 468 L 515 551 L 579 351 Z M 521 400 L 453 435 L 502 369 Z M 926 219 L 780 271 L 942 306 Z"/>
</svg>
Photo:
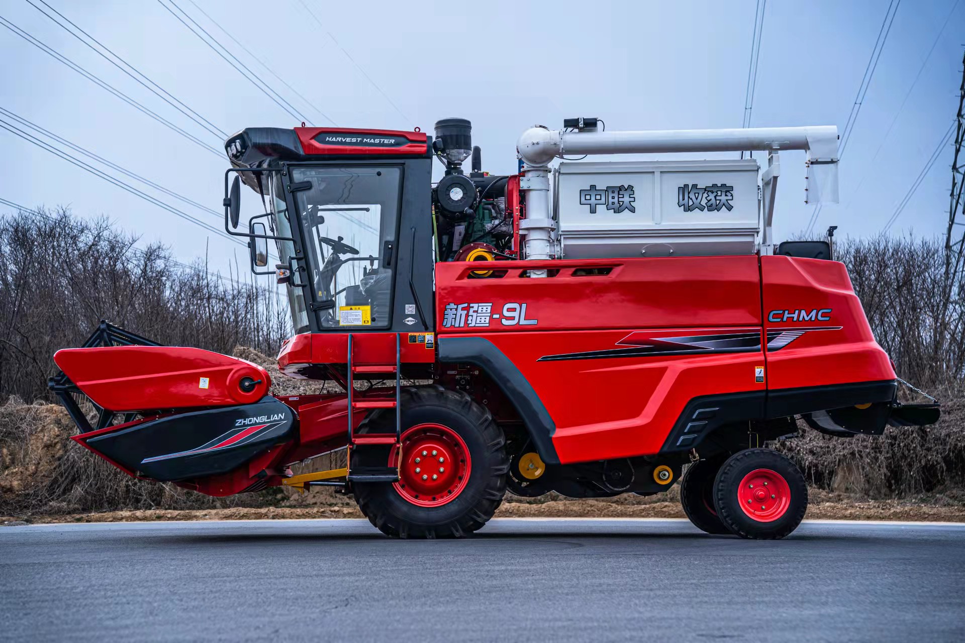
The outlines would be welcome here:
<svg viewBox="0 0 965 643">
<path fill-rule="evenodd" d="M 402 461 L 393 448 L 389 466 L 399 466 L 400 496 L 420 507 L 438 507 L 455 500 L 469 482 L 472 463 L 466 442 L 448 426 L 417 424 L 402 433 Z"/>
</svg>

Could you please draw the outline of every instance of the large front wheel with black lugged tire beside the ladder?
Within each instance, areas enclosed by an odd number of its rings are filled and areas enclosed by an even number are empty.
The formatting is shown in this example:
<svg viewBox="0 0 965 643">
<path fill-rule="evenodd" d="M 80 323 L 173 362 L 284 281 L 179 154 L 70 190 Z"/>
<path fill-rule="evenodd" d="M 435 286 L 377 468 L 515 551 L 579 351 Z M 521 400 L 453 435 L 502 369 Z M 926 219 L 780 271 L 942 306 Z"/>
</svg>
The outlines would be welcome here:
<svg viewBox="0 0 965 643">
<path fill-rule="evenodd" d="M 353 491 L 359 509 L 382 533 L 394 538 L 459 538 L 480 529 L 492 518 L 506 494 L 510 464 L 503 431 L 486 409 L 462 391 L 406 388 L 401 403 L 400 481 L 355 484 Z M 395 411 L 372 414 L 359 432 L 395 432 Z M 417 455 L 412 453 L 413 446 L 427 441 L 438 442 L 440 454 L 445 449 L 445 453 L 451 454 L 447 460 L 452 462 L 440 463 L 438 458 L 442 455 L 428 455 L 419 463 L 420 469 L 443 476 L 440 484 L 451 474 L 465 474 L 453 475 L 448 481 L 452 484 L 440 488 L 437 495 L 430 480 L 422 481 L 425 473 L 414 473 L 415 464 L 411 461 Z M 352 458 L 357 458 L 362 466 L 387 464 L 384 451 L 359 449 Z M 429 458 L 433 469 L 427 467 Z M 390 461 L 395 464 L 394 455 Z M 440 464 L 442 467 L 437 467 Z M 441 470 L 450 468 L 450 473 Z"/>
</svg>

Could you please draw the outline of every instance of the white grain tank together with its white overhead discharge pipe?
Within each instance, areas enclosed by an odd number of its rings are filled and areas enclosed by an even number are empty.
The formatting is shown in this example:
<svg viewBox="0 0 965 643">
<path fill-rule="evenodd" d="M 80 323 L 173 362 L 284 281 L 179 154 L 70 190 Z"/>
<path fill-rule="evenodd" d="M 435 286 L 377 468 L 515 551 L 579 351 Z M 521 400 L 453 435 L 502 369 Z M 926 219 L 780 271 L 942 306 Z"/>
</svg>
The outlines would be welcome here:
<svg viewBox="0 0 965 643">
<path fill-rule="evenodd" d="M 519 190 L 526 216 L 519 233 L 526 258 L 772 254 L 779 156 L 788 149 L 808 152 L 805 202 L 838 202 L 834 125 L 596 131 L 598 121 L 567 120 L 564 130 L 536 125 L 516 142 L 523 162 Z M 756 149 L 767 151 L 759 218 L 753 160 L 563 164 L 553 173 L 557 190 L 550 200 L 549 164 L 565 154 Z"/>
</svg>

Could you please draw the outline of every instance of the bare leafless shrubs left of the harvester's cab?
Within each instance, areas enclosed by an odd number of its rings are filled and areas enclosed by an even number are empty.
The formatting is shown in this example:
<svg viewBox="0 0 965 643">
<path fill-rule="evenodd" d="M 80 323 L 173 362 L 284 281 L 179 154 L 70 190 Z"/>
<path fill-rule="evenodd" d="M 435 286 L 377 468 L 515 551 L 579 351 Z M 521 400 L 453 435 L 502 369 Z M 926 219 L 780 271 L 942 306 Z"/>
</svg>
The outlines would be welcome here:
<svg viewBox="0 0 965 643">
<path fill-rule="evenodd" d="M 172 346 L 277 351 L 290 322 L 274 288 L 240 281 L 239 271 L 220 279 L 203 262 L 184 267 L 136 241 L 63 209 L 0 218 L 0 400 L 51 399 L 51 357 L 101 319 Z"/>
</svg>

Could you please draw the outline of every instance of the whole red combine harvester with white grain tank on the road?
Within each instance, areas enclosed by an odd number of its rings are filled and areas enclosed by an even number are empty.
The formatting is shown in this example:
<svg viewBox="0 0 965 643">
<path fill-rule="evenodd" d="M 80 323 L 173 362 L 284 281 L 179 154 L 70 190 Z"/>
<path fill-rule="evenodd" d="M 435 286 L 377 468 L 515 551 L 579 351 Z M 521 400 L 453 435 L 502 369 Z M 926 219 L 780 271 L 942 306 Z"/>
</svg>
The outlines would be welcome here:
<svg viewBox="0 0 965 643">
<path fill-rule="evenodd" d="M 835 201 L 836 127 L 574 119 L 524 132 L 513 175 L 481 171 L 462 119 L 437 122 L 434 139 L 249 128 L 226 149 L 226 229 L 288 291 L 279 368 L 344 392 L 271 395 L 261 366 L 104 322 L 54 356 L 50 387 L 73 440 L 128 475 L 210 496 L 338 487 L 384 533 L 432 538 L 481 528 L 507 491 L 648 496 L 689 464 L 694 524 L 781 538 L 807 489 L 761 445 L 795 435 L 796 417 L 841 438 L 938 418 L 937 403 L 897 401 L 831 239 L 772 241 L 779 152 L 806 150 L 809 201 Z M 564 156 L 755 149 L 762 173 L 752 158 Z M 247 232 L 241 182 L 265 205 Z M 292 475 L 343 448 L 345 469 Z"/>
</svg>

